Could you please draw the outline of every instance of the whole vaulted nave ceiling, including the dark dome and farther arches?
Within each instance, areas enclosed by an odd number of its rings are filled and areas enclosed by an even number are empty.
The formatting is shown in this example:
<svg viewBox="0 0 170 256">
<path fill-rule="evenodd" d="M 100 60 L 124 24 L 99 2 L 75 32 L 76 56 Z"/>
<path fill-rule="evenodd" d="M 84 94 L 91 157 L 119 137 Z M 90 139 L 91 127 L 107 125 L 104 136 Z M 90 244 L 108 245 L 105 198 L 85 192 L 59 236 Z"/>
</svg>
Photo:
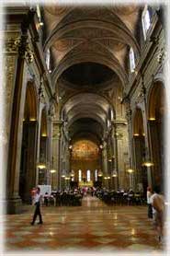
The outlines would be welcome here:
<svg viewBox="0 0 170 256">
<path fill-rule="evenodd" d="M 128 84 L 130 47 L 140 56 L 141 6 L 57 6 L 54 1 L 43 7 L 43 16 L 44 52 L 51 51 L 52 84 L 70 131 L 76 124 L 76 134 L 98 136 L 97 127 L 104 134 L 108 111 L 114 111 L 112 92 Z"/>
</svg>

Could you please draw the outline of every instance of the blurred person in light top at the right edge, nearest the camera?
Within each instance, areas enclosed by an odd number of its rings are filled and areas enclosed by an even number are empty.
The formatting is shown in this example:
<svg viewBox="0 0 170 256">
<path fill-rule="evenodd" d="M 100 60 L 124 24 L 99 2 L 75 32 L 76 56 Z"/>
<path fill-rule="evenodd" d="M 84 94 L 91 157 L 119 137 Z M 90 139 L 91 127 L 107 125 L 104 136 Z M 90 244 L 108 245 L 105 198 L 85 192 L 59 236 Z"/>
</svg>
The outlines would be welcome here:
<svg viewBox="0 0 170 256">
<path fill-rule="evenodd" d="M 159 242 L 162 242 L 164 238 L 164 197 L 160 194 L 158 186 L 153 188 L 150 202 L 153 205 L 153 224 L 158 232 Z"/>
</svg>

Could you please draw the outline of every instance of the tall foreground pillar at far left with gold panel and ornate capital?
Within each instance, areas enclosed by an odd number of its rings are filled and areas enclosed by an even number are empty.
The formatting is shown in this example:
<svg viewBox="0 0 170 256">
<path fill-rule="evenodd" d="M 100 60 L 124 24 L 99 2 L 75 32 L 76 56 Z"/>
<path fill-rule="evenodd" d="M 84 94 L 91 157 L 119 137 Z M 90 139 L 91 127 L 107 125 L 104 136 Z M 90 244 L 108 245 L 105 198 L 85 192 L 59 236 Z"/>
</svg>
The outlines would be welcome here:
<svg viewBox="0 0 170 256">
<path fill-rule="evenodd" d="M 17 24 L 17 26 L 19 27 L 19 24 Z M 6 156 L 8 156 L 6 175 L 7 213 L 16 213 L 19 211 L 17 205 L 21 204 L 21 199 L 18 195 L 18 188 L 22 145 L 22 124 L 26 96 L 27 64 L 31 62 L 33 58 L 28 42 L 28 27 L 24 28 L 24 26 L 22 26 L 22 29 L 21 33 L 18 32 L 19 29 L 17 32 L 12 32 L 11 34 L 8 33 L 5 41 L 6 47 L 4 52 L 6 56 L 6 72 L 10 73 L 10 76 L 6 76 L 6 112 L 8 113 L 6 119 L 6 126 L 8 127 L 8 144 L 6 147 Z M 14 35 L 16 36 L 14 37 Z M 8 69 L 7 61 L 9 61 L 10 56 L 11 69 Z"/>
</svg>

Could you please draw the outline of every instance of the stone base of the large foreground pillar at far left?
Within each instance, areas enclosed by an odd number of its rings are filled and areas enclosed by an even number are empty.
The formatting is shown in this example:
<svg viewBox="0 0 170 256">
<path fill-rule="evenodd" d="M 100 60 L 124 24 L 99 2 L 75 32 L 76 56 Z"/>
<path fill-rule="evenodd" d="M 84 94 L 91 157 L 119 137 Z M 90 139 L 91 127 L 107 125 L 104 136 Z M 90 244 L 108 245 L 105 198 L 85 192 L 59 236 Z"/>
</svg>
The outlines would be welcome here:
<svg viewBox="0 0 170 256">
<path fill-rule="evenodd" d="M 22 212 L 22 200 L 20 197 L 7 199 L 5 203 L 5 213 L 7 215 L 17 215 Z"/>
</svg>

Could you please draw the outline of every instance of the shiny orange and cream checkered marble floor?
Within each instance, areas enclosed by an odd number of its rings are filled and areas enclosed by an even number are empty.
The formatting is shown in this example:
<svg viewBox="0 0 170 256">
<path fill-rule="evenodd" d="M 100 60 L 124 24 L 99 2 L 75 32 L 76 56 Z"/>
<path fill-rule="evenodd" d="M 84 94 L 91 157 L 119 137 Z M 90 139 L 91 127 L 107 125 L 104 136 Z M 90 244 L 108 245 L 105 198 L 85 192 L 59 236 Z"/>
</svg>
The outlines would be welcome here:
<svg viewBox="0 0 170 256">
<path fill-rule="evenodd" d="M 43 225 L 31 226 L 33 210 L 28 205 L 20 215 L 6 215 L 3 243 L 6 254 L 81 251 L 138 255 L 137 251 L 152 254 L 164 251 L 152 221 L 147 218 L 146 206 L 108 206 L 96 197 L 86 196 L 82 206 L 42 206 Z"/>
</svg>

